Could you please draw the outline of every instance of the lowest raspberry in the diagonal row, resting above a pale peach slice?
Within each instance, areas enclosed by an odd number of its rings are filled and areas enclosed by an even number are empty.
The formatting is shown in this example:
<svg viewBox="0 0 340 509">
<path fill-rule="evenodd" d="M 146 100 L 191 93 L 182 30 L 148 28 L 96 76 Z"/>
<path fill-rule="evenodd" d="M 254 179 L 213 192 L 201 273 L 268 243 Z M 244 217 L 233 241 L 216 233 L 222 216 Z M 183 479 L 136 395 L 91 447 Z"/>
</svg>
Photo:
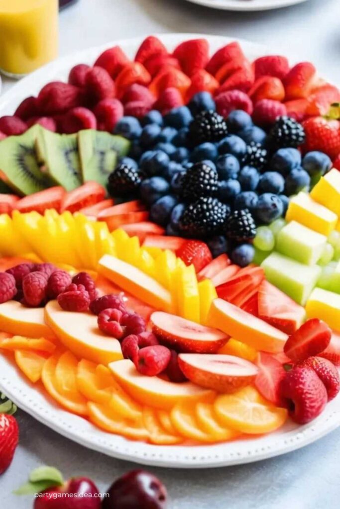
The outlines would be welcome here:
<svg viewBox="0 0 340 509">
<path fill-rule="evenodd" d="M 142 375 L 154 377 L 167 369 L 170 350 L 162 345 L 141 348 L 134 364 Z"/>
</svg>

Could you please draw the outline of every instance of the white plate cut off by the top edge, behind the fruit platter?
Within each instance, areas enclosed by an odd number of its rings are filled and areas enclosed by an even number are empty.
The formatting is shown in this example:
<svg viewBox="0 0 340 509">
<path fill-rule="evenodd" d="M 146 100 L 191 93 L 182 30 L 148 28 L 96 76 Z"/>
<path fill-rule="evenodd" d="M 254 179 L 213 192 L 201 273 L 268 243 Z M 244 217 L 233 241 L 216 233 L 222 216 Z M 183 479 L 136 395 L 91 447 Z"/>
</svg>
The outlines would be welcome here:
<svg viewBox="0 0 340 509">
<path fill-rule="evenodd" d="M 211 9 L 251 12 L 290 7 L 291 5 L 307 2 L 307 0 L 187 0 L 187 2 L 210 7 Z"/>
</svg>

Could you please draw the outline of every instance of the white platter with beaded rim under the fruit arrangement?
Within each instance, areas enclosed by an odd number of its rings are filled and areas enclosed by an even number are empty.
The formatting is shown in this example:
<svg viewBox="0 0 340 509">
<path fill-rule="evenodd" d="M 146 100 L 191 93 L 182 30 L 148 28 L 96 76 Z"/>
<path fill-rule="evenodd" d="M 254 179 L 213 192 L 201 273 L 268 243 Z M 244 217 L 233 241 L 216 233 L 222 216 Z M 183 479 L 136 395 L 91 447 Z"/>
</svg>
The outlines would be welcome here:
<svg viewBox="0 0 340 509">
<path fill-rule="evenodd" d="M 251 1 L 251 0 L 250 0 Z M 179 42 L 206 37 L 211 53 L 231 39 L 201 34 L 169 34 L 159 36 L 169 50 Z M 105 46 L 90 48 L 48 64 L 19 81 L 0 98 L 0 117 L 12 115 L 19 102 L 28 95 L 35 95 L 48 81 L 67 79 L 74 64 L 93 64 L 98 54 L 107 47 L 119 44 L 133 58 L 141 39 L 114 41 Z M 268 53 L 264 46 L 240 41 L 249 59 Z M 1 240 L 0 240 L 1 242 Z M 263 460 L 307 445 L 340 426 L 340 396 L 327 405 L 322 415 L 310 425 L 295 426 L 292 422 L 276 433 L 257 438 L 247 438 L 217 445 L 159 446 L 133 442 L 120 436 L 104 433 L 87 420 L 58 407 L 53 400 L 31 385 L 6 357 L 0 355 L 0 390 L 5 392 L 20 408 L 61 435 L 86 447 L 116 458 L 147 465 L 177 468 L 207 468 Z"/>
</svg>

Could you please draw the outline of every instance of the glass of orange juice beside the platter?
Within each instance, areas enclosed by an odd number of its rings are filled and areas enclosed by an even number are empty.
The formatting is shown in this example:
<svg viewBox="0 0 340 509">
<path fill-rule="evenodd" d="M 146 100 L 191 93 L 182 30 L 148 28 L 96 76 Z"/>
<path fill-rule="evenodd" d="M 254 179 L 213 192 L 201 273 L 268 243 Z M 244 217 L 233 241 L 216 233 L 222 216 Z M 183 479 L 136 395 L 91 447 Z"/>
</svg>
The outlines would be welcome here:
<svg viewBox="0 0 340 509">
<path fill-rule="evenodd" d="M 21 77 L 58 54 L 58 0 L 0 0 L 0 70 Z"/>
</svg>

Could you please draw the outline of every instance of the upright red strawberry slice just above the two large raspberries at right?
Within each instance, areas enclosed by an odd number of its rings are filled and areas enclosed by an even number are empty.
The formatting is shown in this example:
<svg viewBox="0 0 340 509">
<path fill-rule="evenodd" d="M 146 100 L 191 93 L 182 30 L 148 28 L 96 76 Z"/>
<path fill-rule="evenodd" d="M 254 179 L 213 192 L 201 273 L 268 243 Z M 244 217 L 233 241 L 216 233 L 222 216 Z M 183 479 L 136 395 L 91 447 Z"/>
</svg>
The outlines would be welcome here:
<svg viewBox="0 0 340 509">
<path fill-rule="evenodd" d="M 293 362 L 299 362 L 326 350 L 331 336 L 332 331 L 325 322 L 312 318 L 289 336 L 283 350 Z"/>
</svg>

